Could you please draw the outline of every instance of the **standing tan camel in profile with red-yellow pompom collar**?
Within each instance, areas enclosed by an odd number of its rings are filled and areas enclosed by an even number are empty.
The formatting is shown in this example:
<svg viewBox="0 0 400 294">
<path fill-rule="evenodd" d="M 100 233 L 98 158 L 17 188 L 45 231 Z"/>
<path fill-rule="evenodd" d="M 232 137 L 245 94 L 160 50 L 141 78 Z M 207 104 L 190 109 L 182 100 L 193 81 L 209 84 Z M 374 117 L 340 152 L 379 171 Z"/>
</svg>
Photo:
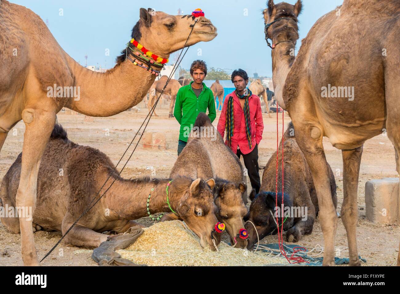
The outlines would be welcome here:
<svg viewBox="0 0 400 294">
<path fill-rule="evenodd" d="M 0 147 L 9 130 L 22 119 L 26 130 L 16 206 L 32 207 L 34 212 L 38 169 L 56 113 L 62 107 L 88 116 L 120 113 L 142 100 L 155 74 L 132 62 L 137 58 L 133 43 L 117 58 L 114 68 L 105 73 L 92 72 L 62 50 L 46 24 L 28 8 L 0 0 L 0 19 Z M 192 16 L 140 8 L 132 38 L 168 58 L 184 46 L 194 23 Z M 187 45 L 210 41 L 215 36 L 216 28 L 210 20 L 200 17 Z M 162 66 L 149 65 L 158 71 Z M 70 95 L 68 89 L 80 94 Z M 19 220 L 22 260 L 26 266 L 37 266 L 32 219 L 20 216 Z"/>
</svg>

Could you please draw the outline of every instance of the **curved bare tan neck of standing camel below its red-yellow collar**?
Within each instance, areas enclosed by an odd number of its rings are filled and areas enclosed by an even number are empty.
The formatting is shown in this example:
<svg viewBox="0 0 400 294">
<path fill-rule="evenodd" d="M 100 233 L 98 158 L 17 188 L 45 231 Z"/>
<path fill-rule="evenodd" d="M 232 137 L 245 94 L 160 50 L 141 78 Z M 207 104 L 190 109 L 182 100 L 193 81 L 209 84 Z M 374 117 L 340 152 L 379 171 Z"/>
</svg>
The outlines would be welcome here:
<svg viewBox="0 0 400 294">
<path fill-rule="evenodd" d="M 112 116 L 133 107 L 156 78 L 129 59 L 104 73 L 84 68 L 70 56 L 68 64 L 80 94 L 69 98 L 65 106 L 88 116 Z"/>
</svg>

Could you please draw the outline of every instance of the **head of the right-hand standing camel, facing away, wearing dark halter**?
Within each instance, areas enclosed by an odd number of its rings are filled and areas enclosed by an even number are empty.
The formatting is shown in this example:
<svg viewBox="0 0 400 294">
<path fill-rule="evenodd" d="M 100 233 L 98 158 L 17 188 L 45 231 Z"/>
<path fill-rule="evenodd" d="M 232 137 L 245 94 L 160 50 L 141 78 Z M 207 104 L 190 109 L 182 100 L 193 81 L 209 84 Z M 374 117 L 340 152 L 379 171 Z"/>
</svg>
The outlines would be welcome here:
<svg viewBox="0 0 400 294">
<path fill-rule="evenodd" d="M 292 5 L 286 2 L 274 4 L 274 0 L 268 0 L 267 8 L 264 9 L 264 23 L 270 24 L 279 18 L 291 18 L 278 20 L 266 30 L 266 37 L 270 38 L 273 44 L 281 40 L 292 40 L 296 42 L 299 38 L 297 17 L 302 10 L 302 2 L 298 0 Z"/>
</svg>

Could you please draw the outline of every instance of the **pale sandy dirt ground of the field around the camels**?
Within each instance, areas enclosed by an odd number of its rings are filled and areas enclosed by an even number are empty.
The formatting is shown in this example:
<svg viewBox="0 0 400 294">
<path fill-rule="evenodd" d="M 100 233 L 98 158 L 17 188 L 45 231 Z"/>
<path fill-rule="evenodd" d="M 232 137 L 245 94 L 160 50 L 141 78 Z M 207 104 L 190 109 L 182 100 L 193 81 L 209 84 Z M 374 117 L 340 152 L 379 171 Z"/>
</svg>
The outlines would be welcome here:
<svg viewBox="0 0 400 294">
<path fill-rule="evenodd" d="M 147 109 L 143 102 L 138 105 L 139 112 L 126 111 L 109 118 L 94 118 L 94 122 L 84 122 L 83 115 L 68 115 L 64 112 L 58 114 L 58 122 L 68 131 L 70 140 L 81 144 L 98 148 L 106 153 L 116 164 L 132 140 L 134 133 L 139 128 Z M 168 177 L 177 155 L 179 124 L 174 118 L 168 118 L 168 109 L 157 110 L 158 117 L 153 117 L 148 124 L 147 131 L 163 132 L 167 137 L 167 150 L 143 149 L 138 146 L 132 159 L 127 164 L 122 176 L 125 178 L 151 174 L 151 167 L 154 168 L 157 177 Z M 219 113 L 214 121 L 218 123 Z M 263 114 L 264 133 L 263 140 L 259 146 L 259 164 L 265 166 L 271 154 L 276 150 L 276 114 L 272 118 Z M 279 114 L 280 129 L 282 134 L 282 114 Z M 285 125 L 290 117 L 285 115 Z M 15 131 L 10 131 L 8 138 L 0 153 L 0 176 L 6 174 L 8 168 L 22 151 L 22 142 L 25 126 L 19 122 Z M 136 139 L 137 140 L 137 139 Z M 343 200 L 342 184 L 342 154 L 340 150 L 333 148 L 324 138 L 326 158 L 335 174 L 338 186 L 338 209 L 340 212 Z M 127 157 L 126 157 L 127 158 Z M 122 165 L 121 165 L 122 166 Z M 338 169 L 338 170 L 337 170 Z M 262 170 L 260 170 L 260 176 Z M 364 152 L 361 161 L 360 180 L 358 186 L 359 221 L 357 227 L 358 253 L 366 258 L 368 266 L 394 266 L 398 254 L 400 228 L 396 224 L 372 224 L 365 218 L 364 186 L 370 179 L 398 176 L 395 166 L 394 149 L 392 143 L 386 136 L 376 136 L 367 141 L 364 145 Z M 248 186 L 250 182 L 248 181 Z M 250 189 L 248 190 L 250 192 Z M 140 219 L 140 222 L 150 225 L 147 218 Z M 227 234 L 224 239 L 228 241 Z M 36 249 L 41 259 L 50 248 L 58 241 L 59 232 L 35 232 Z M 268 236 L 261 242 L 278 241 L 278 237 Z M 314 224 L 312 234 L 304 236 L 299 245 L 314 247 L 317 244 L 324 246 L 320 223 Z M 339 218 L 338 231 L 336 233 L 336 246 L 347 246 L 346 231 Z M 44 266 L 95 266 L 91 259 L 91 250 L 82 250 L 78 247 L 66 247 L 60 244 L 42 265 Z M 347 252 L 341 257 L 348 257 Z M 20 235 L 10 234 L 0 223 L 0 266 L 22 265 L 20 257 Z"/>
</svg>

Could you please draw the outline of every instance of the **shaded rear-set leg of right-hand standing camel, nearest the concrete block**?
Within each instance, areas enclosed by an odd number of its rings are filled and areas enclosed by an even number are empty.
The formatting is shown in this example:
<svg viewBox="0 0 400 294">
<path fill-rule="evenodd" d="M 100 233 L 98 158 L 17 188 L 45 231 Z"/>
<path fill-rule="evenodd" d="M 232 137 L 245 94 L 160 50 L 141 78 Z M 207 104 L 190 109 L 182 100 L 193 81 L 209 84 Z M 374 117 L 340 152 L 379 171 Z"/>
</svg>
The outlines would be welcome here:
<svg viewBox="0 0 400 294">
<path fill-rule="evenodd" d="M 356 227 L 358 221 L 357 189 L 358 174 L 362 146 L 352 150 L 342 150 L 343 157 L 343 204 L 341 217 L 346 228 L 347 242 L 349 246 L 349 266 L 360 266 L 358 259 Z"/>
</svg>

